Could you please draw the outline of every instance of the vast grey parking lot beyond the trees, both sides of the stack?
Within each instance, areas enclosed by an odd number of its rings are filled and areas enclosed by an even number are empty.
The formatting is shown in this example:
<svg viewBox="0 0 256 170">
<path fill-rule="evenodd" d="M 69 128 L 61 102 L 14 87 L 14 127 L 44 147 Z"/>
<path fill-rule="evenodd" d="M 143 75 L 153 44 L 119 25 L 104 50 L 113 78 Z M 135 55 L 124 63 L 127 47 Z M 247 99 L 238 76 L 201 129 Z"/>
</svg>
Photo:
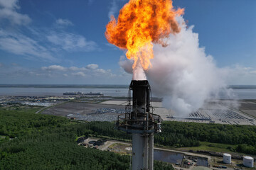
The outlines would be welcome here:
<svg viewBox="0 0 256 170">
<path fill-rule="evenodd" d="M 50 115 L 62 115 L 68 118 L 87 121 L 114 121 L 117 115 L 125 113 L 127 101 L 112 99 L 91 102 L 68 102 L 58 106 L 47 108 L 42 113 Z M 178 115 L 171 109 L 162 107 L 161 101 L 153 101 L 154 113 L 161 115 L 163 120 L 197 122 L 197 123 L 221 123 L 230 125 L 256 125 L 256 101 L 229 101 L 212 100 L 205 103 L 198 111 L 186 116 Z M 247 111 L 247 112 L 246 112 Z"/>
</svg>

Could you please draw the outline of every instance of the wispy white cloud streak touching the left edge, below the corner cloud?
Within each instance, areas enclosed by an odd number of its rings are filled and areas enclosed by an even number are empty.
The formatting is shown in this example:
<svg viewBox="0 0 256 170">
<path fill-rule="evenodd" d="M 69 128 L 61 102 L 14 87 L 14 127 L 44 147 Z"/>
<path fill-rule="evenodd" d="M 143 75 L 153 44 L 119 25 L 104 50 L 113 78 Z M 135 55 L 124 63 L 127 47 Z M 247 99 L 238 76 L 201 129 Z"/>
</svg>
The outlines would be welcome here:
<svg viewBox="0 0 256 170">
<path fill-rule="evenodd" d="M 36 40 L 28 38 L 21 33 L 9 33 L 0 29 L 0 49 L 16 55 L 37 57 L 41 60 L 55 61 L 46 47 L 39 45 Z"/>
</svg>

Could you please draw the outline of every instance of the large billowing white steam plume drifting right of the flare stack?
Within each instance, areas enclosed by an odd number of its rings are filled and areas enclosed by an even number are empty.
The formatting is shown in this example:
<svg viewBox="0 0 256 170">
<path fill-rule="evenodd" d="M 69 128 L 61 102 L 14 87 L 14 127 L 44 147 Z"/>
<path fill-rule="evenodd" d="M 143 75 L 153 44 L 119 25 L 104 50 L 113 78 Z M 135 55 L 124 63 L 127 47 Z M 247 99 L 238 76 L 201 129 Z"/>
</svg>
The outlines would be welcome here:
<svg viewBox="0 0 256 170">
<path fill-rule="evenodd" d="M 163 98 L 165 108 L 187 115 L 201 108 L 206 99 L 218 97 L 220 90 L 226 87 L 228 70 L 216 67 L 213 57 L 199 47 L 198 33 L 193 33 L 193 26 L 187 28 L 181 16 L 177 21 L 181 32 L 166 39 L 167 47 L 154 45 L 154 59 L 146 77 L 154 96 Z M 132 61 L 121 57 L 119 64 L 132 73 Z M 135 69 L 134 77 L 143 77 L 141 71 Z"/>
</svg>

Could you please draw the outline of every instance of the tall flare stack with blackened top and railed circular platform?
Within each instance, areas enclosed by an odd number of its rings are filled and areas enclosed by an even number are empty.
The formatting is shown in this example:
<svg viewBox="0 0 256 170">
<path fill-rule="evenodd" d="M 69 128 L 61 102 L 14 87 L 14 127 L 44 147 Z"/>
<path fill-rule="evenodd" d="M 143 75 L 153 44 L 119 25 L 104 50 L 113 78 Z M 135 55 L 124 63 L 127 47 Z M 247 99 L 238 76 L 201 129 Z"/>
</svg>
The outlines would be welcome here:
<svg viewBox="0 0 256 170">
<path fill-rule="evenodd" d="M 153 170 L 154 133 L 161 132 L 161 117 L 153 114 L 147 80 L 132 80 L 125 110 L 118 115 L 117 129 L 132 133 L 132 170 Z"/>
</svg>

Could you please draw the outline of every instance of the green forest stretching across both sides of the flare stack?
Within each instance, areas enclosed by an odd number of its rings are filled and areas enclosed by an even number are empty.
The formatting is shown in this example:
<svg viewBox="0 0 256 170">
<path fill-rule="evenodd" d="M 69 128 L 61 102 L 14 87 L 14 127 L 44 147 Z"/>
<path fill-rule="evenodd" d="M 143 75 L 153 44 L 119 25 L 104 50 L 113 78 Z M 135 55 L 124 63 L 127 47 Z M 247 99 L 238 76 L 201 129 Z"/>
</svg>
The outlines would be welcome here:
<svg viewBox="0 0 256 170">
<path fill-rule="evenodd" d="M 67 118 L 35 114 L 33 109 L 0 108 L 0 169 L 129 169 L 129 157 L 76 144 L 79 136 L 132 140 L 110 122 L 71 122 Z M 256 154 L 256 127 L 164 121 L 154 135 L 156 145 L 192 147 L 200 142 L 237 145 L 235 152 Z M 9 137 L 14 140 L 9 140 Z M 16 138 L 15 138 L 16 137 Z M 156 162 L 155 169 L 172 169 Z"/>
</svg>

